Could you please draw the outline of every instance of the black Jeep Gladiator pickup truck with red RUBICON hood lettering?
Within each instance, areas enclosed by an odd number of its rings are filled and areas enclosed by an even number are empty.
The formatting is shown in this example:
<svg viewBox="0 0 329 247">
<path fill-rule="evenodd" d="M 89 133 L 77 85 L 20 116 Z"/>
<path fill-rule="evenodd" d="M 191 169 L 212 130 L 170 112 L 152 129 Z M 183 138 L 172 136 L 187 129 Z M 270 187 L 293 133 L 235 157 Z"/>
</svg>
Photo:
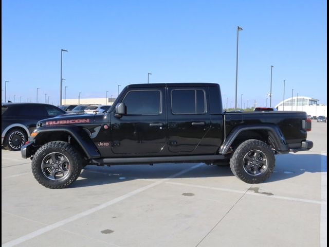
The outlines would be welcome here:
<svg viewBox="0 0 329 247">
<path fill-rule="evenodd" d="M 241 180 L 262 183 L 275 154 L 313 147 L 310 129 L 305 112 L 223 112 L 218 84 L 133 84 L 104 114 L 39 121 L 21 152 L 48 188 L 69 186 L 86 165 L 221 160 Z"/>
</svg>

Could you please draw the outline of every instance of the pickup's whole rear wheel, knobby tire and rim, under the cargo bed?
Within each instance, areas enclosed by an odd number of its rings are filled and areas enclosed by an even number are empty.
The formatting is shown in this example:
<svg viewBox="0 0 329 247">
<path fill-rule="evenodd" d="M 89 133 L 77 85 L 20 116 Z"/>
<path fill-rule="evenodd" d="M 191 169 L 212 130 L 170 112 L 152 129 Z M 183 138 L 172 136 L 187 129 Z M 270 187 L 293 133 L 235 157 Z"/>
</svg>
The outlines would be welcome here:
<svg viewBox="0 0 329 247">
<path fill-rule="evenodd" d="M 235 177 L 248 184 L 263 183 L 275 168 L 275 156 L 266 143 L 250 139 L 234 151 L 230 167 Z"/>
</svg>

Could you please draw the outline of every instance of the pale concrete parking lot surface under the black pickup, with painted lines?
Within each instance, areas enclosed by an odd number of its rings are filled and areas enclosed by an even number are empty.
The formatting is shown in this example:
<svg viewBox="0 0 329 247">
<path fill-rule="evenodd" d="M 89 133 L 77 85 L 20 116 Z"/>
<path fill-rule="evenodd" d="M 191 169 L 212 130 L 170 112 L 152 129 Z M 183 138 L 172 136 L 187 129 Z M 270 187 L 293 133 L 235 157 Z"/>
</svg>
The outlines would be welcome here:
<svg viewBox="0 0 329 247">
<path fill-rule="evenodd" d="M 2 150 L 3 246 L 326 246 L 327 125 L 263 184 L 205 164 L 87 166 L 47 189 Z"/>
</svg>

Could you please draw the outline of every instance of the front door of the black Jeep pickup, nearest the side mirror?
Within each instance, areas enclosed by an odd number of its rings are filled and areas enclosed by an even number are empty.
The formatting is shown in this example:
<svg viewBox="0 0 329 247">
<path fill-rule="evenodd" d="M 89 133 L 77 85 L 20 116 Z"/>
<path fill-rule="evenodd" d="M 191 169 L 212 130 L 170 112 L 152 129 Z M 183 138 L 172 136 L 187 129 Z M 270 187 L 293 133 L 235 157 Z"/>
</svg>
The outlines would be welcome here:
<svg viewBox="0 0 329 247">
<path fill-rule="evenodd" d="M 166 146 L 166 99 L 164 87 L 127 89 L 121 102 L 126 114 L 113 112 L 112 151 L 117 154 L 158 154 Z"/>
</svg>

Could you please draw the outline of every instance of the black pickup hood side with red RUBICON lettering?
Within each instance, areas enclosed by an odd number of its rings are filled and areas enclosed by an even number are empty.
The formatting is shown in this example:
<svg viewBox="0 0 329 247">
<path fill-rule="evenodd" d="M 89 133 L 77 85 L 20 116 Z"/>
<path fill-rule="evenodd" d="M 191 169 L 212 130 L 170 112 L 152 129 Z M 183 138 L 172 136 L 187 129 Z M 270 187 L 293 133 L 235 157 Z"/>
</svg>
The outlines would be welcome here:
<svg viewBox="0 0 329 247">
<path fill-rule="evenodd" d="M 37 123 L 37 127 L 50 127 L 58 125 L 80 125 L 93 123 L 95 115 L 59 115 L 57 117 L 46 118 Z"/>
</svg>

